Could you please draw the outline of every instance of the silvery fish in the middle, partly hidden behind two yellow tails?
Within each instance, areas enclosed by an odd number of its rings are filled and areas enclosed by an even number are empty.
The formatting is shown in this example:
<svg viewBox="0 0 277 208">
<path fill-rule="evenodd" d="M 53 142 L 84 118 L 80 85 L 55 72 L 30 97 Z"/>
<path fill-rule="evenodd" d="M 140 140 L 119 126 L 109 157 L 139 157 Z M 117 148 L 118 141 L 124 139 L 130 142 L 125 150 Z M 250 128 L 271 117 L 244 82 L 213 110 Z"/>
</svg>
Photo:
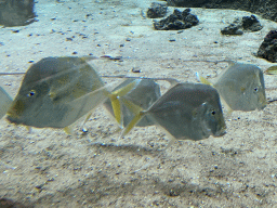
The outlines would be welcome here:
<svg viewBox="0 0 277 208">
<path fill-rule="evenodd" d="M 133 81 L 135 82 L 135 86 L 122 98 L 124 98 L 129 102 L 132 102 L 135 105 L 138 105 L 141 108 L 147 109 L 149 106 L 151 106 L 154 102 L 156 102 L 161 96 L 160 87 L 157 82 L 155 82 L 154 79 L 126 78 L 126 80 L 122 83 L 120 83 L 117 88 L 115 88 L 115 90 L 124 88 Z M 121 98 L 119 99 L 119 101 L 120 100 Z M 119 123 L 119 126 L 120 128 L 123 128 L 133 119 L 134 113 L 121 101 L 120 106 L 122 120 L 121 123 Z M 106 100 L 104 102 L 104 107 L 113 117 L 115 117 L 110 100 Z M 155 125 L 154 121 L 150 118 L 148 118 L 147 115 L 136 123 L 137 127 L 147 127 L 153 125 Z"/>
</svg>

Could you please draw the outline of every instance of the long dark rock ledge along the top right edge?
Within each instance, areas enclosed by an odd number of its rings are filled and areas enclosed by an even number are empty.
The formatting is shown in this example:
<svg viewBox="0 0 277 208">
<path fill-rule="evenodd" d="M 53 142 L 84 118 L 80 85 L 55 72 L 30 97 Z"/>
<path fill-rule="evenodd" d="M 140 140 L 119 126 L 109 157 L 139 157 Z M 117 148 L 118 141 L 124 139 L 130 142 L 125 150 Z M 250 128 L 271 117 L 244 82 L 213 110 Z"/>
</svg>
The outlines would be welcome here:
<svg viewBox="0 0 277 208">
<path fill-rule="evenodd" d="M 277 22 L 276 0 L 167 0 L 168 5 L 183 8 L 230 9 L 249 11 Z"/>
</svg>

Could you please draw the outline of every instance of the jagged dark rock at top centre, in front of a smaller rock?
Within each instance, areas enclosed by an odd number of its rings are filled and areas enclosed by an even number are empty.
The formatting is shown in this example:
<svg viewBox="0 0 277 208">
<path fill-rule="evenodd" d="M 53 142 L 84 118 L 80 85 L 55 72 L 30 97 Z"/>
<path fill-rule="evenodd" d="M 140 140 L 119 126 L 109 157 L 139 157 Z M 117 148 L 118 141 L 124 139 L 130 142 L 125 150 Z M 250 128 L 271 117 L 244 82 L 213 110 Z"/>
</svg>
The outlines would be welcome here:
<svg viewBox="0 0 277 208">
<path fill-rule="evenodd" d="M 154 27 L 157 30 L 179 30 L 190 28 L 198 23 L 198 17 L 190 14 L 190 9 L 186 9 L 183 12 L 174 10 L 173 14 L 169 15 L 167 18 L 155 22 Z"/>
</svg>

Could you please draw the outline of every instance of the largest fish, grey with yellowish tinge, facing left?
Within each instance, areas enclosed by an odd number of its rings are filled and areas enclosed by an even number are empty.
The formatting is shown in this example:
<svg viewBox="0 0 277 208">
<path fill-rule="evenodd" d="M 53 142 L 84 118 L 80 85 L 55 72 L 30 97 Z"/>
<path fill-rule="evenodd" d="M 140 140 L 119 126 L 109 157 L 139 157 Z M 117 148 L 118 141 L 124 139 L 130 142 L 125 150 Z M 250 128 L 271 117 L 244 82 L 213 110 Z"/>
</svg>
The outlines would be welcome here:
<svg viewBox="0 0 277 208">
<path fill-rule="evenodd" d="M 44 57 L 32 64 L 6 113 L 8 120 L 27 127 L 64 128 L 71 134 L 69 126 L 106 99 L 111 100 L 120 120 L 118 94 L 105 88 L 88 58 Z"/>
</svg>

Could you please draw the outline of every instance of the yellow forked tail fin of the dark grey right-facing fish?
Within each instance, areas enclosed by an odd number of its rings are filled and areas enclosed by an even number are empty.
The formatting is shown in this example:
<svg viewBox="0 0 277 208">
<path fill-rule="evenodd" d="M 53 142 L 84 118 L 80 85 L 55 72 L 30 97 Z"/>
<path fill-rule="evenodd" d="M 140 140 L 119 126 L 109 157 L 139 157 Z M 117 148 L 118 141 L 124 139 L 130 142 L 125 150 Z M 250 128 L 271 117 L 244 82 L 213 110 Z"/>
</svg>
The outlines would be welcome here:
<svg viewBox="0 0 277 208">
<path fill-rule="evenodd" d="M 126 104 L 126 106 L 131 109 L 132 113 L 134 113 L 134 118 L 128 123 L 128 126 L 123 129 L 121 136 L 124 136 L 127 133 L 129 133 L 133 127 L 143 118 L 145 115 L 145 112 L 140 106 L 135 105 L 131 101 L 128 101 L 126 99 L 121 99 L 122 102 Z"/>
</svg>

